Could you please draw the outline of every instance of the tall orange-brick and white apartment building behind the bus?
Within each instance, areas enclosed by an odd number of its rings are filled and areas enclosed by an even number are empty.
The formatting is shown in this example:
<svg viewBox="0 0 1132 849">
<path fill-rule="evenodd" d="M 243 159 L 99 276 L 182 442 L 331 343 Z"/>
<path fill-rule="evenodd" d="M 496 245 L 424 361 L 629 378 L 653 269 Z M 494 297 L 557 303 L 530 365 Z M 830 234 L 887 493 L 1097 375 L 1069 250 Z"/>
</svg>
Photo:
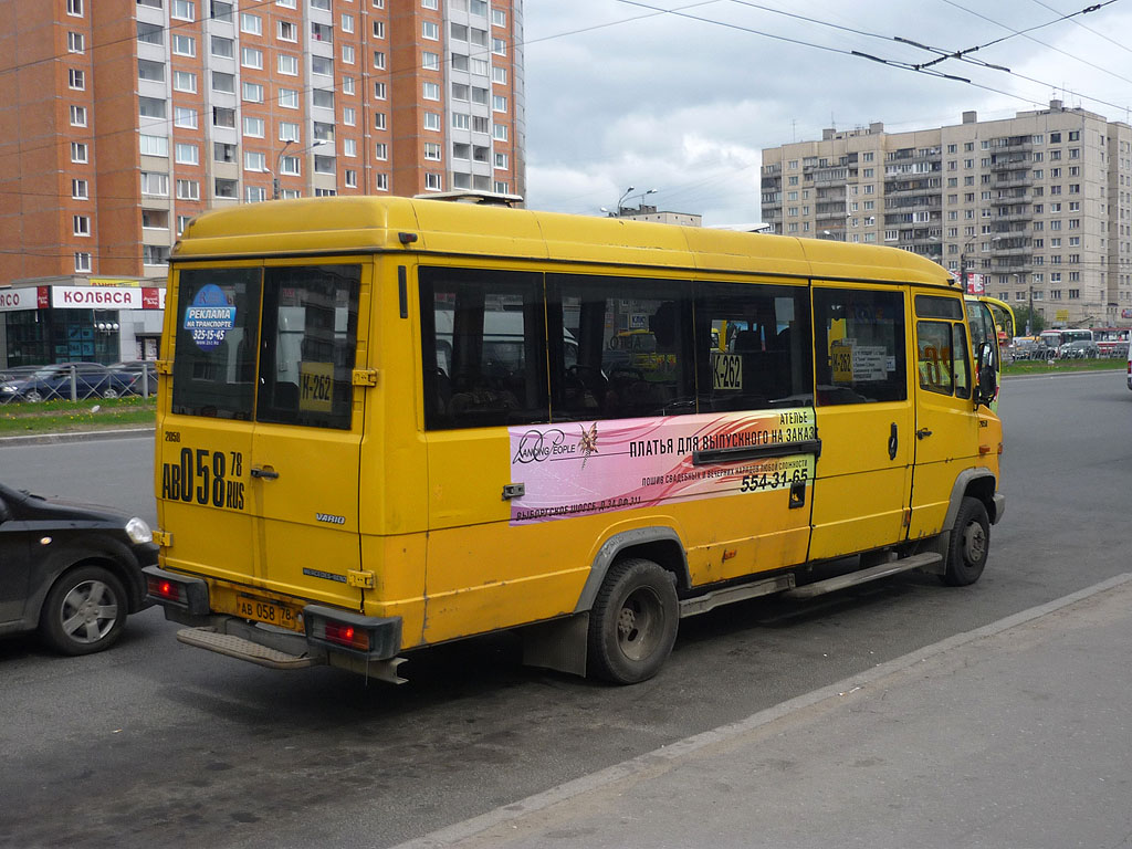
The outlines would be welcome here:
<svg viewBox="0 0 1132 849">
<path fill-rule="evenodd" d="M 522 32 L 522 0 L 0 0 L 0 286 L 161 277 L 276 192 L 521 195 Z"/>
</svg>

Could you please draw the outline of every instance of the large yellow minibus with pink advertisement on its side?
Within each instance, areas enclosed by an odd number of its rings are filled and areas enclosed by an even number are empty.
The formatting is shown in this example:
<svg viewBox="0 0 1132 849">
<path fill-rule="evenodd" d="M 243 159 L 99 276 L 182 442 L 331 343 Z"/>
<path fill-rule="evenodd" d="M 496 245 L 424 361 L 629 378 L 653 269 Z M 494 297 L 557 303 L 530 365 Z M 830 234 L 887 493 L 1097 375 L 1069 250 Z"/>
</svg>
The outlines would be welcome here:
<svg viewBox="0 0 1132 849">
<path fill-rule="evenodd" d="M 723 603 L 971 584 L 1004 509 L 992 345 L 889 248 L 246 205 L 186 228 L 162 345 L 149 594 L 274 668 L 401 681 L 517 629 L 533 666 L 640 681 Z"/>
</svg>

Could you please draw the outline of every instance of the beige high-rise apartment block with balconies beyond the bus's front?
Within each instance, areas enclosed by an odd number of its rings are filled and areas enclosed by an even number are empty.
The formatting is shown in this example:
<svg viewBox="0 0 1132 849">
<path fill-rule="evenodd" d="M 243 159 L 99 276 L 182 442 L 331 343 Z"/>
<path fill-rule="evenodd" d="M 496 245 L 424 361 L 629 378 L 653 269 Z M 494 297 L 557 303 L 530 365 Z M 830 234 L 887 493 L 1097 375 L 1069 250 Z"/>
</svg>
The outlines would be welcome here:
<svg viewBox="0 0 1132 849">
<path fill-rule="evenodd" d="M 1061 101 L 764 149 L 762 215 L 775 233 L 928 257 L 1047 325 L 1132 324 L 1132 128 Z"/>
</svg>

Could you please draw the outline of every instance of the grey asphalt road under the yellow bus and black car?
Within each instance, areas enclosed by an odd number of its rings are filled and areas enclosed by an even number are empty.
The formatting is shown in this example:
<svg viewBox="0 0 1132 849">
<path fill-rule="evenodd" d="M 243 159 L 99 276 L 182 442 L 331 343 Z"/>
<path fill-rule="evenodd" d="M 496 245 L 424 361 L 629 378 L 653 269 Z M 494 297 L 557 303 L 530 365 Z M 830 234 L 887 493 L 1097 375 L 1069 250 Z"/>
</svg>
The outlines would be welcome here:
<svg viewBox="0 0 1132 849">
<path fill-rule="evenodd" d="M 978 584 L 723 608 L 636 687 L 525 669 L 508 636 L 414 655 L 400 688 L 272 672 L 181 646 L 154 610 L 92 658 L 0 642 L 0 846 L 392 846 L 1125 572 L 1124 375 L 1007 380 L 1002 414 L 1007 509 Z M 147 439 L 0 448 L 9 484 L 152 518 L 151 464 Z"/>
</svg>

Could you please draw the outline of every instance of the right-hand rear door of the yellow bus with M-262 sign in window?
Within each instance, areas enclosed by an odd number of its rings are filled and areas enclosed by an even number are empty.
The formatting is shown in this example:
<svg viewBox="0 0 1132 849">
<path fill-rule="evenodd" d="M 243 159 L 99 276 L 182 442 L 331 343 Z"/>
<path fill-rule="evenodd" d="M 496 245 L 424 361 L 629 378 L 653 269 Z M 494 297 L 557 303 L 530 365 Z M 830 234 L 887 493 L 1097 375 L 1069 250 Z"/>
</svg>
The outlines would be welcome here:
<svg viewBox="0 0 1132 849">
<path fill-rule="evenodd" d="M 362 568 L 358 487 L 370 268 L 264 269 L 256 430 L 246 473 L 259 578 L 277 592 L 353 610 Z M 379 474 L 379 472 L 370 472 Z"/>
</svg>

